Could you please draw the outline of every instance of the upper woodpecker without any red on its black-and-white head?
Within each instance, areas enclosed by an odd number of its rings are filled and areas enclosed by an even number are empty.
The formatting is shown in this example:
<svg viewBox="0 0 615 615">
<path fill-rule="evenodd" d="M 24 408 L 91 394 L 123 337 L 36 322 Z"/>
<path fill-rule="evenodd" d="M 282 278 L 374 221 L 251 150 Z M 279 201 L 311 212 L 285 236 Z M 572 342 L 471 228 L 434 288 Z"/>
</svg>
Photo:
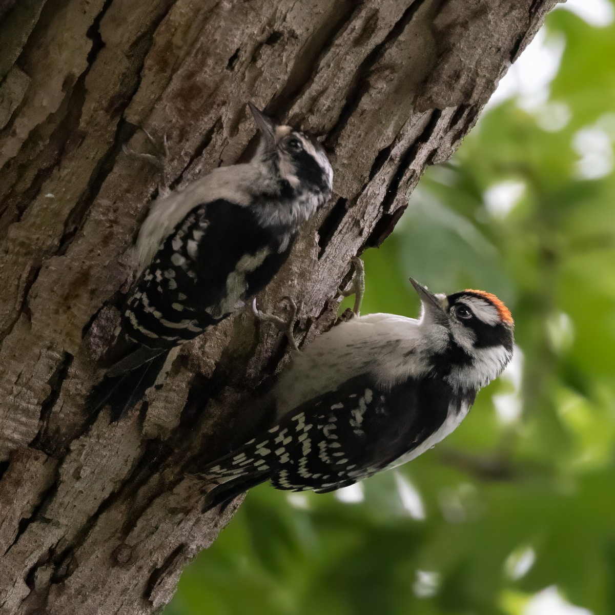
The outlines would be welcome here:
<svg viewBox="0 0 615 615">
<path fill-rule="evenodd" d="M 261 133 L 252 160 L 155 200 L 141 226 L 137 281 L 118 335 L 130 351 L 94 395 L 98 407 L 109 402 L 112 419 L 153 384 L 170 349 L 240 309 L 271 281 L 301 225 L 330 196 L 333 171 L 322 147 L 248 105 Z M 153 373 L 141 373 L 153 365 Z M 109 383 L 123 375 L 130 378 Z M 135 384 L 143 389 L 137 399 Z"/>
</svg>

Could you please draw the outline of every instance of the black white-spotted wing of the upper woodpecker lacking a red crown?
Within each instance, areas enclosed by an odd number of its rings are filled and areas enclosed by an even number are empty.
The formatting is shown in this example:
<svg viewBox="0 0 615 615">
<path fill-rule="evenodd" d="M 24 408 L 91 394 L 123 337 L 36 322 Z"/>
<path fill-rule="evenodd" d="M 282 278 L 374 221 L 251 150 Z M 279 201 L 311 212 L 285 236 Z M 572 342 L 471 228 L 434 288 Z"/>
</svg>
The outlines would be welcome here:
<svg viewBox="0 0 615 615">
<path fill-rule="evenodd" d="M 269 283 L 290 253 L 292 242 L 281 240 L 251 208 L 224 199 L 199 205 L 141 274 L 123 330 L 151 348 L 195 338 Z"/>
</svg>

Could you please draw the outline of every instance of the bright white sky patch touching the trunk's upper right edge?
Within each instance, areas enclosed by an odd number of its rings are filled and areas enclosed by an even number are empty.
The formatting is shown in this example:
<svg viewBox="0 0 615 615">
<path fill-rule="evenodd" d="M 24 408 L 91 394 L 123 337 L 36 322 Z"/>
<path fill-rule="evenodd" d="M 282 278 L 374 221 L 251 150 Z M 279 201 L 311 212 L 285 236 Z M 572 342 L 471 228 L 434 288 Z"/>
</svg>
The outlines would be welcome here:
<svg viewBox="0 0 615 615">
<path fill-rule="evenodd" d="M 566 41 L 561 34 L 547 37 L 544 28 L 502 77 L 486 107 L 517 98 L 517 105 L 526 111 L 539 108 L 549 99 L 549 85 L 560 69 Z"/>
</svg>

